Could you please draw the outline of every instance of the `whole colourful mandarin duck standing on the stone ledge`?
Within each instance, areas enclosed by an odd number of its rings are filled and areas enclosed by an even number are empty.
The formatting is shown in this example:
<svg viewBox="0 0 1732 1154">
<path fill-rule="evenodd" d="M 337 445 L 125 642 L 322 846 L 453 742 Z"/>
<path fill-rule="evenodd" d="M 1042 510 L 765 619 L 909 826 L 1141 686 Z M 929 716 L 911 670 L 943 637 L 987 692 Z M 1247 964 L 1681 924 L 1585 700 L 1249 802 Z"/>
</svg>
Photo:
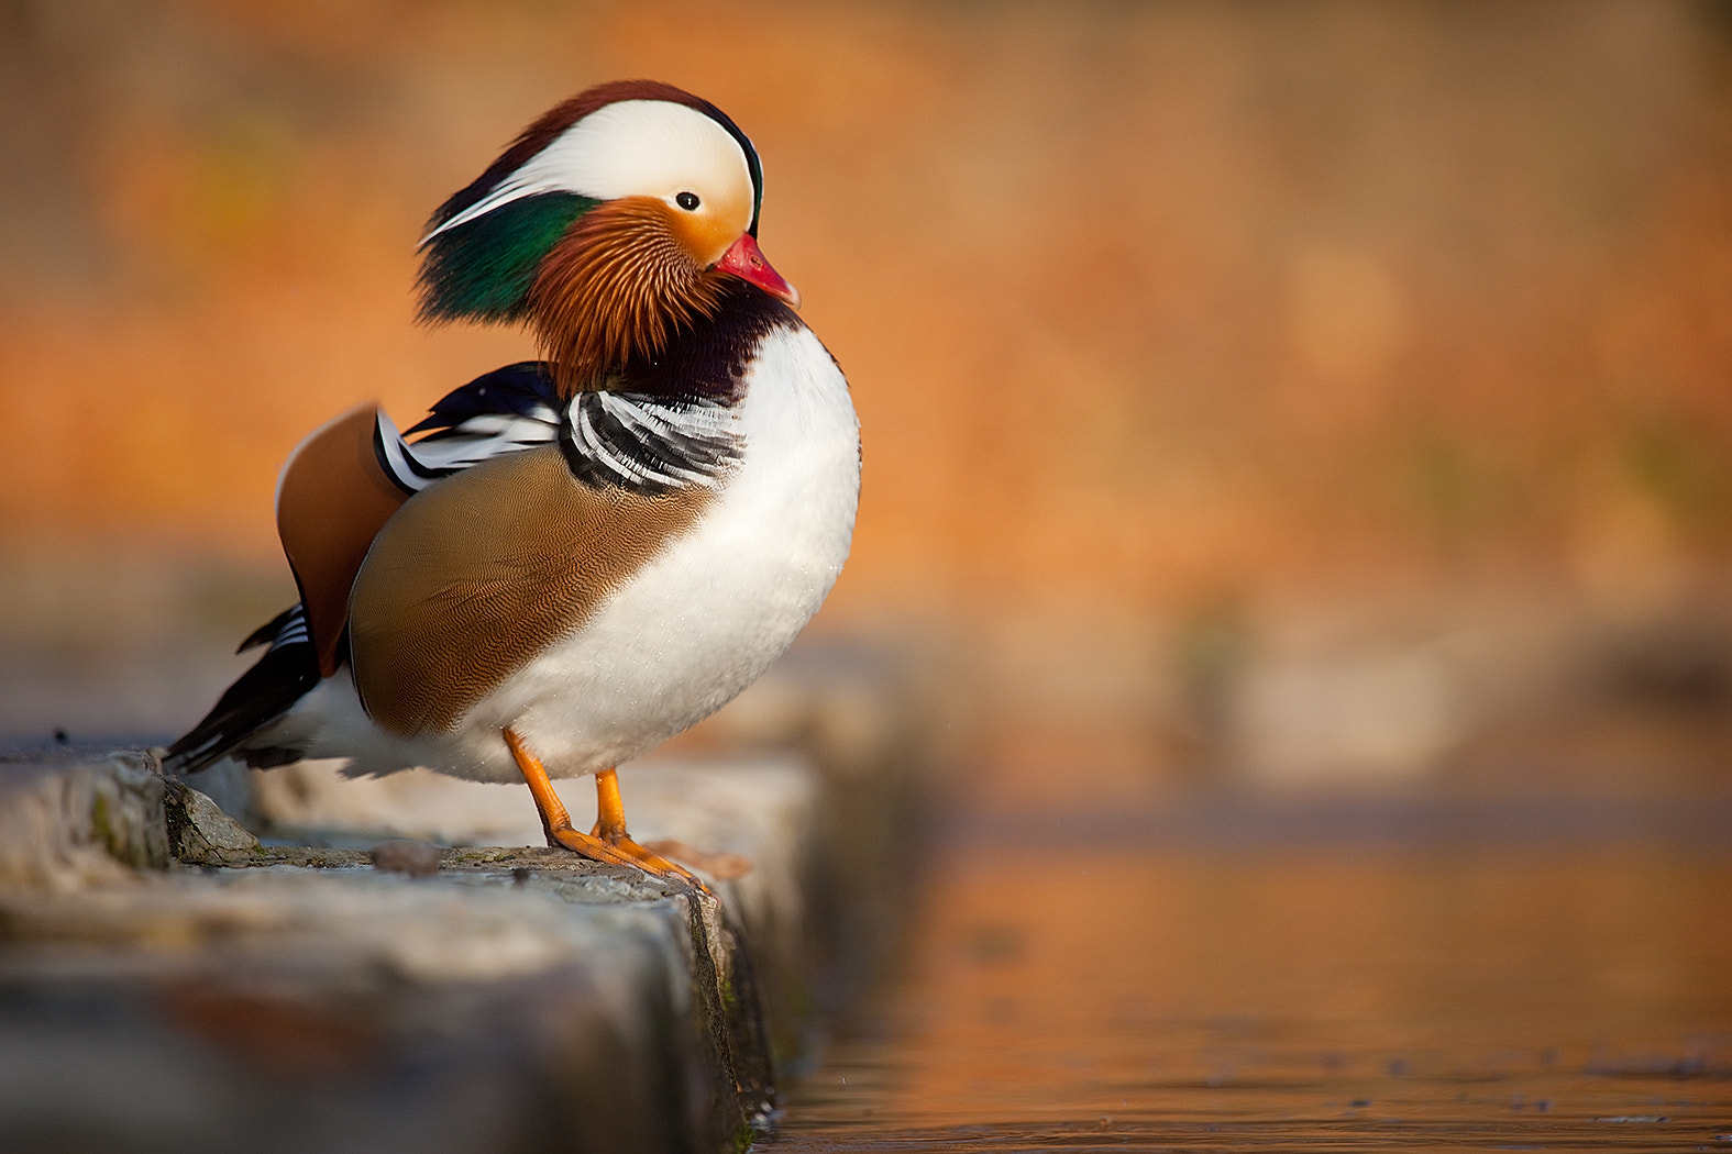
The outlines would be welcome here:
<svg viewBox="0 0 1732 1154">
<path fill-rule="evenodd" d="M 421 318 L 527 324 L 544 360 L 398 433 L 362 405 L 277 484 L 300 604 L 165 760 L 346 760 L 527 782 L 549 844 L 701 886 L 632 841 L 615 768 L 790 645 L 849 552 L 847 381 L 757 246 L 764 175 L 712 104 L 584 92 L 438 208 Z M 412 438 L 412 439 L 410 439 Z M 572 825 L 551 777 L 596 775 Z"/>
</svg>

